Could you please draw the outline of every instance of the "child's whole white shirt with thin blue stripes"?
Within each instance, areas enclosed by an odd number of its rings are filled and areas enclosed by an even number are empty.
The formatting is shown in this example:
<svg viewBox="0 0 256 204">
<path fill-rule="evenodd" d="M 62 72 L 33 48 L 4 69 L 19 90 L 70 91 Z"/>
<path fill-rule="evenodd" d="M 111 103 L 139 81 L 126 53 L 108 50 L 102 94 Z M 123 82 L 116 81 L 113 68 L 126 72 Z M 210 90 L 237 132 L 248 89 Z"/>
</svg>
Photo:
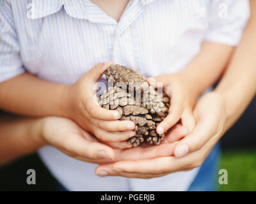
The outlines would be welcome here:
<svg viewBox="0 0 256 204">
<path fill-rule="evenodd" d="M 236 46 L 250 14 L 247 0 L 131 0 L 116 22 L 89 0 L 1 0 L 0 82 L 29 71 L 72 84 L 99 62 L 156 76 L 183 69 L 202 41 Z M 141 180 L 98 178 L 95 164 L 53 147 L 40 156 L 70 190 L 186 190 L 198 169 Z"/>
</svg>

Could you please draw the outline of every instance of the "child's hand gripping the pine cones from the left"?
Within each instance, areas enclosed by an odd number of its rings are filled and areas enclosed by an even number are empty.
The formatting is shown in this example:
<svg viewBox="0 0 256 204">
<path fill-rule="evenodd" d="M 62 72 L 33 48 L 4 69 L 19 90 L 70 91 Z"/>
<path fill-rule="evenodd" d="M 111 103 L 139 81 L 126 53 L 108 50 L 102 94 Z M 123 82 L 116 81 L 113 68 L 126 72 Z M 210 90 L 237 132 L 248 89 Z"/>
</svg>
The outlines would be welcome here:
<svg viewBox="0 0 256 204">
<path fill-rule="evenodd" d="M 120 113 L 100 107 L 96 96 L 96 85 L 104 71 L 113 64 L 97 64 L 65 92 L 67 117 L 75 120 L 84 130 L 112 147 L 131 147 L 126 141 L 135 135 L 134 123 L 119 121 Z M 122 142 L 122 143 L 116 143 Z"/>
</svg>

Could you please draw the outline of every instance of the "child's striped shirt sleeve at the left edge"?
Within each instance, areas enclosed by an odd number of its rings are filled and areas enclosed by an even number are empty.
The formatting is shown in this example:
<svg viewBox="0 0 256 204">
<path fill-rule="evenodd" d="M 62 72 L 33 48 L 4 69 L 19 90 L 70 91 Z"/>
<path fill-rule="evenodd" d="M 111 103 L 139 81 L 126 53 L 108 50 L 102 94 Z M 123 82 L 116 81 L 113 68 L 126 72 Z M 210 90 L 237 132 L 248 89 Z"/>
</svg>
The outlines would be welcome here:
<svg viewBox="0 0 256 204">
<path fill-rule="evenodd" d="M 24 72 L 20 60 L 19 40 L 13 19 L 12 5 L 0 1 L 0 83 Z"/>
</svg>

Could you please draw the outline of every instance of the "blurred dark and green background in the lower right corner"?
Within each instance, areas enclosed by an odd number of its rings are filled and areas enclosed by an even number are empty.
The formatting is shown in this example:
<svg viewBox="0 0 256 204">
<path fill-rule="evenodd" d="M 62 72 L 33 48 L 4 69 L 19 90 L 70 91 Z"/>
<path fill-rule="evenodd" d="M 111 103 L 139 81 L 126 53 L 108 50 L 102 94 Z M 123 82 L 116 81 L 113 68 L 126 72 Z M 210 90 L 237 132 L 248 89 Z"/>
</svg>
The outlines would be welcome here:
<svg viewBox="0 0 256 204">
<path fill-rule="evenodd" d="M 256 191 L 256 98 L 221 139 L 220 168 L 228 171 L 221 191 Z"/>
</svg>

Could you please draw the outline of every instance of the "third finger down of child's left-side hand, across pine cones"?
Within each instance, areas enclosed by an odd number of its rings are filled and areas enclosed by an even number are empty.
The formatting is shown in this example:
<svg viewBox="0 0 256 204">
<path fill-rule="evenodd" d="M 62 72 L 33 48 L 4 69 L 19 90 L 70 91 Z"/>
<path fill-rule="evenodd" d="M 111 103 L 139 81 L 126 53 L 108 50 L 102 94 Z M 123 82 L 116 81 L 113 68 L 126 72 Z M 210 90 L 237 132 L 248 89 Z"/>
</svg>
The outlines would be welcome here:
<svg viewBox="0 0 256 204">
<path fill-rule="evenodd" d="M 124 142 L 136 135 L 134 131 L 123 131 L 123 132 L 108 132 L 103 129 L 94 127 L 94 135 L 103 142 Z"/>
</svg>

